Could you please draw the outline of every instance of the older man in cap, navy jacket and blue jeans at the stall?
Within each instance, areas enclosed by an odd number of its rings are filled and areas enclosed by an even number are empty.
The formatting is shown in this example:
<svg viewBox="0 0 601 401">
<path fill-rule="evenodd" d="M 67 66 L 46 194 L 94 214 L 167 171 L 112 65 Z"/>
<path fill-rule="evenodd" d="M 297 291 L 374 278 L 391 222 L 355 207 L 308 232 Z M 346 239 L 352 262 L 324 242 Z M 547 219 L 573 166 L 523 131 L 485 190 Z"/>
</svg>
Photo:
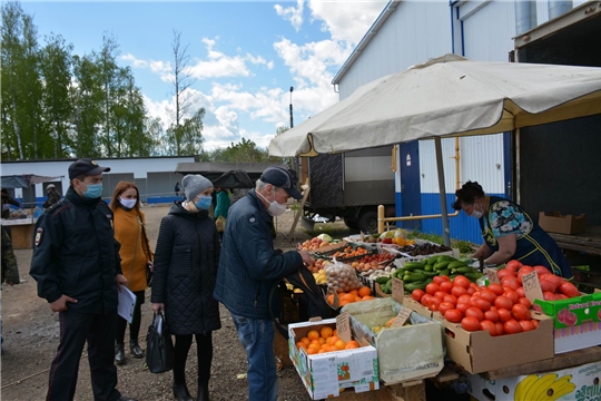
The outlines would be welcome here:
<svg viewBox="0 0 601 401">
<path fill-rule="evenodd" d="M 269 291 L 282 277 L 311 264 L 306 251 L 274 250 L 273 217 L 289 197 L 300 199 L 294 175 L 268 167 L 255 189 L 229 209 L 214 296 L 231 313 L 248 360 L 249 401 L 275 401 L 277 375 Z"/>
</svg>

